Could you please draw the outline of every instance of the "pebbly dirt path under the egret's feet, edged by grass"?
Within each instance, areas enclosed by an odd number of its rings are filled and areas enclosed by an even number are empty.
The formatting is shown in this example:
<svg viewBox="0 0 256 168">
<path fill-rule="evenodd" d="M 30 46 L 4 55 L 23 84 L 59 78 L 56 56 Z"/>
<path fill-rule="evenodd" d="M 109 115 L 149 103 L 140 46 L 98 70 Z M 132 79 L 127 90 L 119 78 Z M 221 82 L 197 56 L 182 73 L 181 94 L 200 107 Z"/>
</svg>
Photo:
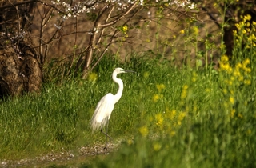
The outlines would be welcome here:
<svg viewBox="0 0 256 168">
<path fill-rule="evenodd" d="M 48 153 L 46 155 L 37 156 L 35 158 L 22 158 L 20 160 L 0 160 L 0 167 L 46 167 L 50 165 L 69 164 L 81 165 L 79 162 L 90 164 L 90 160 L 98 155 L 107 155 L 118 149 L 120 142 L 110 143 L 108 149 L 104 150 L 104 145 L 94 144 L 94 146 L 82 146 L 78 150 L 62 151 L 59 153 Z M 86 161 L 87 160 L 87 161 Z M 72 167 L 77 167 L 72 166 Z"/>
</svg>

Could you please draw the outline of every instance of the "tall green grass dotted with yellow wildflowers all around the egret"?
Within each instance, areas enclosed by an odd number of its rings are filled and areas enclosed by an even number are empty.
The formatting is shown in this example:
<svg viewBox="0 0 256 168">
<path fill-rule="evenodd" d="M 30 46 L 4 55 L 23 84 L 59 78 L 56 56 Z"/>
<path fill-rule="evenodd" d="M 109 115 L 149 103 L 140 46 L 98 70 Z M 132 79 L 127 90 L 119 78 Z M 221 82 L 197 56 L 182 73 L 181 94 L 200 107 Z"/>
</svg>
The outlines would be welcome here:
<svg viewBox="0 0 256 168">
<path fill-rule="evenodd" d="M 227 68 L 225 60 L 219 70 L 178 70 L 157 60 L 104 58 L 86 80 L 48 83 L 41 94 L 10 98 L 1 102 L 0 158 L 103 146 L 104 136 L 91 134 L 89 122 L 100 98 L 118 90 L 111 73 L 121 66 L 137 71 L 118 75 L 125 86 L 109 134 L 122 145 L 85 167 L 254 167 L 255 82 L 244 80 L 255 72 L 242 69 L 254 62 L 241 62 L 239 81 L 236 66 Z"/>
</svg>

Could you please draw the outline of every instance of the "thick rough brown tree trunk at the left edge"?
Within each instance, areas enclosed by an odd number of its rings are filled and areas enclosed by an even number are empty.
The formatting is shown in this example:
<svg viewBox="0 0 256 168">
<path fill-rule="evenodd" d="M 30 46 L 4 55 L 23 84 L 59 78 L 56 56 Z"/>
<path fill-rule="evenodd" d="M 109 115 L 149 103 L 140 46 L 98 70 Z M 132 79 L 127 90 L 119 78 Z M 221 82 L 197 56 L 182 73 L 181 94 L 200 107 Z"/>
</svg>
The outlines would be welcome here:
<svg viewBox="0 0 256 168">
<path fill-rule="evenodd" d="M 0 98 L 38 92 L 42 68 L 29 36 L 34 1 L 2 1 L 0 6 Z"/>
</svg>

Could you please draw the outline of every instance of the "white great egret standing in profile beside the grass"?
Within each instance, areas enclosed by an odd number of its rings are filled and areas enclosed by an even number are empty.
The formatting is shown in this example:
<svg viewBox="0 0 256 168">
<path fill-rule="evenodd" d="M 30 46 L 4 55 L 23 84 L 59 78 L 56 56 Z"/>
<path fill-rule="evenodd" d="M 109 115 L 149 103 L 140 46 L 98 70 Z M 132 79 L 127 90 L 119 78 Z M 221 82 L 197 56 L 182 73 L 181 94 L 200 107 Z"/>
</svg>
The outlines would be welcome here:
<svg viewBox="0 0 256 168">
<path fill-rule="evenodd" d="M 106 135 L 106 146 L 107 146 L 107 138 L 111 137 L 107 134 L 107 127 L 110 119 L 110 115 L 112 111 L 114 110 L 114 104 L 118 102 L 118 100 L 122 96 L 122 90 L 123 90 L 123 82 L 121 78 L 117 78 L 118 74 L 121 73 L 127 73 L 131 72 L 134 73 L 132 70 L 124 70 L 122 68 L 116 68 L 112 74 L 113 81 L 118 83 L 118 93 L 113 95 L 111 93 L 106 94 L 96 106 L 96 110 L 94 111 L 94 115 L 90 120 L 90 128 L 93 130 L 101 130 L 102 134 Z M 103 132 L 103 127 L 105 127 L 106 131 Z M 106 149 L 106 146 L 104 149 Z"/>
</svg>

